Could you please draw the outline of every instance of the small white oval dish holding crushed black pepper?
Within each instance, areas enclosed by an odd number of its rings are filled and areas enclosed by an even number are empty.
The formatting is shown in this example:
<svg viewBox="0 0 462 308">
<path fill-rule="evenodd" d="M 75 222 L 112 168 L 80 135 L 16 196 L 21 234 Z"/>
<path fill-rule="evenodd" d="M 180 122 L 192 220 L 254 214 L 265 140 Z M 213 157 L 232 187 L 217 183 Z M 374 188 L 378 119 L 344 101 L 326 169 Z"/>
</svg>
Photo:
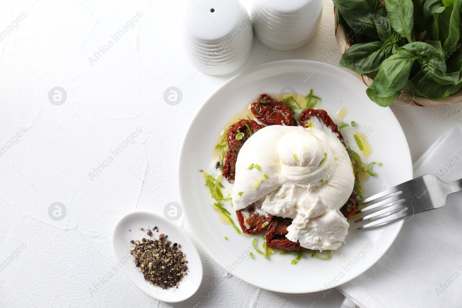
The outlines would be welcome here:
<svg viewBox="0 0 462 308">
<path fill-rule="evenodd" d="M 159 232 L 153 232 L 152 237 L 146 235 L 147 228 L 158 227 Z M 144 228 L 143 231 L 140 228 Z M 131 231 L 129 231 L 131 230 Z M 130 253 L 131 240 L 139 240 L 143 237 L 158 239 L 159 234 L 164 233 L 168 240 L 181 245 L 181 250 L 186 254 L 188 261 L 188 275 L 180 281 L 178 289 L 164 290 L 147 282 L 140 268 L 135 266 L 133 256 Z M 147 295 L 162 302 L 182 302 L 196 293 L 202 281 L 202 262 L 194 244 L 188 236 L 164 217 L 147 211 L 134 211 L 123 216 L 114 227 L 112 233 L 112 247 L 117 261 L 122 261 L 122 272 L 127 275 L 133 284 Z M 125 262 L 128 258 L 128 262 Z"/>
</svg>

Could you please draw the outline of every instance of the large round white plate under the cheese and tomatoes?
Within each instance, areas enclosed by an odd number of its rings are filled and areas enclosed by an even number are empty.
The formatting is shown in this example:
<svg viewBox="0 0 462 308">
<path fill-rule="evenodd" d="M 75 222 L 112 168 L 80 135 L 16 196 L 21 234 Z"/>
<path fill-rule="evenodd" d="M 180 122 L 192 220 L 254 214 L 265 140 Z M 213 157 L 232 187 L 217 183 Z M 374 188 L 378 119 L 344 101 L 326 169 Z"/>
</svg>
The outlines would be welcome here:
<svg viewBox="0 0 462 308">
<path fill-rule="evenodd" d="M 371 183 L 371 179 L 367 181 L 368 195 L 412 179 L 411 156 L 399 122 L 391 109 L 379 107 L 369 100 L 363 83 L 340 68 L 320 62 L 282 60 L 262 64 L 234 76 L 197 111 L 180 155 L 182 205 L 188 225 L 202 248 L 237 278 L 277 292 L 328 290 L 357 277 L 376 263 L 395 240 L 403 220 L 360 231 L 356 230 L 358 226 L 353 223 L 354 219 L 350 220 L 345 244 L 334 251 L 330 260 L 305 255 L 297 265 L 291 265 L 292 254 L 273 254 L 265 260 L 255 251 L 254 259 L 249 259 L 247 249 L 252 249 L 252 237 L 239 235 L 231 225 L 220 221 L 218 212 L 211 205 L 209 189 L 204 186 L 199 172 L 199 169 L 209 167 L 211 149 L 220 139 L 219 134 L 225 124 L 237 120 L 232 118 L 233 114 L 261 93 L 279 94 L 287 86 L 304 96 L 313 89 L 314 94 L 322 98 L 322 105 L 334 114 L 341 107 L 346 107 L 349 112 L 343 121 L 356 121 L 354 129 L 359 132 L 372 130 L 368 142 L 373 152 L 367 161 L 381 162 L 383 166 L 374 166 L 378 175 L 373 178 L 376 183 Z M 336 121 L 335 117 L 333 119 Z M 224 236 L 228 237 L 227 241 Z"/>
</svg>

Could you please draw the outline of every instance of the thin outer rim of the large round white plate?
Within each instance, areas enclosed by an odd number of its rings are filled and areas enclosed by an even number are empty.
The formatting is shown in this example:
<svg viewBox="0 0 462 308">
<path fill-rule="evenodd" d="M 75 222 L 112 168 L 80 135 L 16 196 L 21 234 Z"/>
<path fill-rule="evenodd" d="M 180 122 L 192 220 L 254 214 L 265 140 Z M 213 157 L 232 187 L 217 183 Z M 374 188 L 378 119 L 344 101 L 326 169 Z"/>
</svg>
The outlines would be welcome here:
<svg viewBox="0 0 462 308">
<path fill-rule="evenodd" d="M 215 91 L 213 91 L 208 97 L 206 100 L 204 100 L 202 103 L 201 103 L 201 106 L 199 107 L 199 109 L 197 109 L 197 111 L 195 112 L 195 115 L 193 116 L 193 119 L 191 119 L 191 121 L 189 122 L 189 125 L 188 125 L 188 129 L 185 131 L 184 136 L 188 135 L 190 130 L 192 129 L 192 123 L 195 119 L 195 117 L 200 114 L 206 107 L 206 104 L 211 100 L 211 97 L 213 97 L 217 92 L 221 91 L 221 89 L 227 87 L 229 84 L 233 83 L 236 79 L 239 79 L 243 76 L 246 76 L 246 75 L 249 75 L 251 73 L 254 73 L 256 71 L 259 71 L 259 70 L 262 70 L 263 72 L 265 72 L 263 69 L 265 67 L 268 67 L 268 66 L 280 66 L 280 65 L 295 65 L 295 64 L 299 64 L 301 66 L 309 66 L 309 65 L 319 65 L 319 64 L 322 64 L 322 66 L 328 66 L 330 67 L 329 69 L 334 69 L 334 70 L 337 70 L 339 71 L 339 74 L 348 74 L 348 72 L 342 70 L 340 67 L 337 67 L 337 66 L 333 66 L 333 65 L 330 65 L 330 64 L 327 64 L 327 63 L 323 63 L 323 62 L 319 62 L 319 61 L 313 61 L 313 60 L 302 60 L 302 59 L 287 59 L 287 60 L 277 60 L 277 61 L 271 61 L 271 62 L 267 62 L 267 63 L 263 63 L 261 65 L 257 65 L 257 66 L 254 66 L 254 67 L 250 67 L 249 69 L 243 71 L 243 72 L 240 72 L 236 75 L 234 75 L 233 77 L 231 77 L 230 79 L 228 79 L 227 81 L 225 81 L 222 85 L 220 85 Z M 340 72 L 341 71 L 341 72 Z M 266 72 L 265 72 L 266 73 Z M 285 72 L 285 73 L 290 73 L 290 72 Z M 268 75 L 269 76 L 269 75 Z M 352 80 L 354 80 L 353 82 L 357 83 L 359 86 L 362 86 L 364 87 L 364 89 L 366 89 L 366 85 L 364 83 L 362 83 L 359 79 L 357 79 L 353 74 L 351 74 L 351 77 L 352 77 Z M 271 78 L 271 77 L 270 77 Z M 373 102 L 371 102 L 373 103 Z M 391 115 L 395 118 L 396 122 L 399 124 L 399 128 L 401 129 L 401 132 L 403 133 L 403 136 L 404 136 L 404 139 L 406 140 L 406 153 L 403 153 L 403 156 L 406 156 L 409 158 L 411 164 L 410 164 L 410 178 L 409 180 L 411 180 L 413 178 L 413 165 L 412 165 L 412 159 L 411 159 L 411 152 L 409 150 L 409 144 L 407 142 L 407 138 L 406 138 L 406 135 L 404 134 L 404 131 L 402 130 L 402 127 L 401 127 L 401 123 L 398 121 L 398 119 L 396 118 L 395 114 L 393 113 L 393 110 L 391 110 L 390 107 L 384 107 L 383 108 L 384 110 L 387 110 L 388 109 L 388 113 L 391 113 Z M 387 114 L 388 114 L 387 113 Z M 179 188 L 179 194 L 180 194 L 180 200 L 182 202 L 182 204 L 184 205 L 185 204 L 185 199 L 183 198 L 183 194 L 182 194 L 182 191 L 184 190 L 185 187 L 183 187 L 182 185 L 182 179 L 181 179 L 181 175 L 182 175 L 182 169 L 184 169 L 183 167 L 183 161 L 184 161 L 184 156 L 186 155 L 185 154 L 185 146 L 186 146 L 186 138 L 183 138 L 183 141 L 182 141 L 182 145 L 181 145 L 181 148 L 180 148 L 180 156 L 179 156 L 179 161 L 178 161 L 178 188 Z M 187 209 L 186 209 L 186 206 L 184 207 L 184 213 L 185 213 L 185 219 L 186 219 L 186 223 L 188 224 L 188 228 L 193 232 L 193 235 L 195 237 L 195 239 L 197 240 L 197 242 L 200 243 L 202 249 L 204 249 L 204 251 L 207 253 L 207 255 L 213 260 L 215 261 L 215 263 L 217 263 L 220 267 L 222 267 L 226 272 L 229 273 L 228 270 L 226 270 L 225 268 L 225 265 L 222 265 L 220 264 L 220 259 L 217 257 L 215 257 L 213 255 L 213 253 L 211 253 L 209 251 L 209 248 L 207 246 L 207 244 L 205 242 L 202 241 L 202 239 L 196 235 L 195 231 L 191 228 L 191 223 L 190 223 L 190 220 L 189 220 L 189 217 L 187 215 Z M 383 247 L 383 250 L 378 253 L 377 255 L 379 255 L 378 259 L 372 263 L 370 266 L 364 266 L 363 268 L 361 268 L 361 270 L 359 270 L 358 274 L 353 276 L 352 278 L 348 278 L 348 279 L 345 279 L 344 281 L 342 281 L 340 284 L 336 284 L 334 286 L 334 288 L 336 287 L 339 287 L 340 285 L 342 284 L 346 284 L 347 282 L 353 280 L 354 278 L 358 278 L 360 275 L 362 275 L 365 271 L 367 271 L 368 269 L 370 269 L 372 266 L 374 266 L 380 259 L 382 259 L 383 255 L 389 250 L 389 248 L 391 247 L 391 245 L 395 242 L 396 240 L 396 237 L 398 236 L 398 234 L 400 233 L 401 231 L 401 228 L 402 228 L 402 225 L 404 223 L 404 219 L 405 217 L 401 218 L 401 219 L 398 219 L 395 224 L 397 225 L 397 228 L 395 229 L 395 232 L 392 234 L 392 236 L 390 236 L 391 240 L 389 241 L 389 243 Z M 211 249 L 211 248 L 210 248 Z M 239 278 L 240 280 L 248 283 L 248 284 L 251 284 L 251 285 L 255 285 L 256 287 L 259 287 L 263 290 L 269 290 L 269 291 L 274 291 L 274 292 L 278 292 L 278 293 L 285 293 L 285 294 L 305 294 L 305 293 L 314 293 L 314 292 L 319 292 L 319 291 L 322 291 L 322 290 L 329 290 L 329 288 L 320 288 L 319 290 L 313 290 L 313 291 L 305 291 L 305 292 L 300 292 L 300 291 L 293 291 L 293 292 L 290 292 L 290 291 L 281 291 L 281 290 L 278 290 L 276 288 L 271 288 L 271 287 L 267 287 L 267 286 L 263 286 L 259 283 L 255 283 L 255 282 L 251 282 L 249 281 L 248 279 L 245 278 L 245 276 L 243 277 L 242 275 L 238 274 L 238 273 L 233 273 L 231 272 L 230 273 L 231 275 L 233 275 L 234 277 L 236 278 Z M 330 288 L 332 289 L 332 288 Z"/>
</svg>

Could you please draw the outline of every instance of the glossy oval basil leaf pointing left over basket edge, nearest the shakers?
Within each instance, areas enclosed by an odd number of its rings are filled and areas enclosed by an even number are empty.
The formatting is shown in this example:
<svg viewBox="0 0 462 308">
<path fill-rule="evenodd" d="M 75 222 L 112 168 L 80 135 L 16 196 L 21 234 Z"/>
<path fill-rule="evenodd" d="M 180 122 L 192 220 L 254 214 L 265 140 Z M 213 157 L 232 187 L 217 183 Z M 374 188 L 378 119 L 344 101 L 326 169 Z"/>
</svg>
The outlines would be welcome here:
<svg viewBox="0 0 462 308">
<path fill-rule="evenodd" d="M 377 71 L 383 60 L 385 60 L 385 50 L 382 49 L 382 42 L 354 44 L 342 54 L 339 66 L 365 74 Z"/>
</svg>

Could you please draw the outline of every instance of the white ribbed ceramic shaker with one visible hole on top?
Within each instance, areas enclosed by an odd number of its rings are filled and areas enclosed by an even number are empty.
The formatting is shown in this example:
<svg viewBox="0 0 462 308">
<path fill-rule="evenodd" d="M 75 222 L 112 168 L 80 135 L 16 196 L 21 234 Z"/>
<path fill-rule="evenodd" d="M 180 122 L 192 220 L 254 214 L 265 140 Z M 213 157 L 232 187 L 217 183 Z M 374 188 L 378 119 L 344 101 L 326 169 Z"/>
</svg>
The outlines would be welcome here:
<svg viewBox="0 0 462 308">
<path fill-rule="evenodd" d="M 235 71 L 253 43 L 253 18 L 238 0 L 187 0 L 184 42 L 191 64 L 209 75 Z"/>
</svg>

